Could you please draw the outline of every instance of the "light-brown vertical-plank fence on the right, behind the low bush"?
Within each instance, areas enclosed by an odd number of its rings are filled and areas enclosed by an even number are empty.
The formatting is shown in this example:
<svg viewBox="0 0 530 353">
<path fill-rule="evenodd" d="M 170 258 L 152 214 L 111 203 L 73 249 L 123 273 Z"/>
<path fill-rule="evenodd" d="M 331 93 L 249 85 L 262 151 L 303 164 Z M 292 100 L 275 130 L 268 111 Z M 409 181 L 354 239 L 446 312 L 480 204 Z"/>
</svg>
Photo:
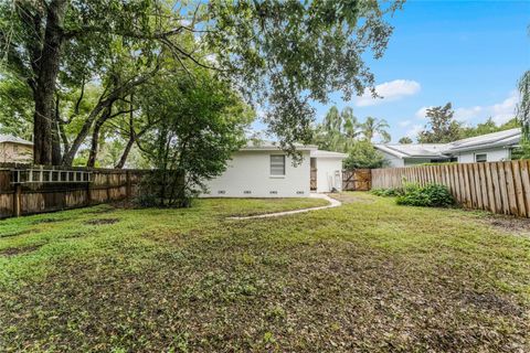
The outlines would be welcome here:
<svg viewBox="0 0 530 353">
<path fill-rule="evenodd" d="M 468 208 L 530 217 L 530 161 L 445 164 L 372 170 L 372 188 L 403 181 L 446 185 Z"/>
</svg>

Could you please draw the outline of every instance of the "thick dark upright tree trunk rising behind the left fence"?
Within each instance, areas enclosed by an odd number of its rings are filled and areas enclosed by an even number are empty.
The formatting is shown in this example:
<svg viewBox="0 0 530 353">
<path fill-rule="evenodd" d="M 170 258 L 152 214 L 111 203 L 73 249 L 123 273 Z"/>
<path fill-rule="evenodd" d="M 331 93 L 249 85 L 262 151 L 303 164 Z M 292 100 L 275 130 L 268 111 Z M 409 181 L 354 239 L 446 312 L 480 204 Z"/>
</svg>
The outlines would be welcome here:
<svg viewBox="0 0 530 353">
<path fill-rule="evenodd" d="M 33 162 L 51 164 L 52 160 L 52 125 L 54 118 L 55 82 L 61 62 L 63 42 L 63 20 L 66 0 L 53 0 L 47 6 L 44 43 L 39 58 L 39 72 L 35 73 L 35 114 L 33 117 Z"/>
</svg>

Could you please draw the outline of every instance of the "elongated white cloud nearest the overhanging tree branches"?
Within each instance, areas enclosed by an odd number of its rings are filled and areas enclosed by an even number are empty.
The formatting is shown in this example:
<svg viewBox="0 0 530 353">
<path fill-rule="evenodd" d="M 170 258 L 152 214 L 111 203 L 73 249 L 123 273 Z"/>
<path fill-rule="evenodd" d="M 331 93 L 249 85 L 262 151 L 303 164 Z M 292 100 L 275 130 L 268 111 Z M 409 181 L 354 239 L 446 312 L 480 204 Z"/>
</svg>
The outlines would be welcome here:
<svg viewBox="0 0 530 353">
<path fill-rule="evenodd" d="M 381 103 L 398 100 L 406 96 L 413 96 L 421 90 L 420 83 L 410 79 L 394 79 L 375 86 L 375 92 L 382 98 L 373 98 L 370 89 L 364 89 L 362 96 L 357 98 L 358 107 L 374 106 Z"/>
</svg>

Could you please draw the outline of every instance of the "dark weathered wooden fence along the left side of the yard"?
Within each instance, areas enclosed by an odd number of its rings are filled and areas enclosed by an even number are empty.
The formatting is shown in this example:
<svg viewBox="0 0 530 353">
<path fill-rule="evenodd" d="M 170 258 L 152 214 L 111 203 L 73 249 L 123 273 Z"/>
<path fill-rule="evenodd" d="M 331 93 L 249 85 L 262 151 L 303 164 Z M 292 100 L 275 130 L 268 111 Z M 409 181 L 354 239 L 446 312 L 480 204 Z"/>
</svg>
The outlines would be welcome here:
<svg viewBox="0 0 530 353">
<path fill-rule="evenodd" d="M 0 218 L 130 199 L 148 172 L 0 164 Z"/>
</svg>

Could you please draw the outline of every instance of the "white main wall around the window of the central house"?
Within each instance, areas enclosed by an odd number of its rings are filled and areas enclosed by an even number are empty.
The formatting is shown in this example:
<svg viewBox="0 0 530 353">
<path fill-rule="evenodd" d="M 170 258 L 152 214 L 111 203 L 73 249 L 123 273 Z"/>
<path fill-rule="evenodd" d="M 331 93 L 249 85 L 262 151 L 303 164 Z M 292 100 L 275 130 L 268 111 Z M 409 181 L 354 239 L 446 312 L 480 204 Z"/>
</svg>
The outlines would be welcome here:
<svg viewBox="0 0 530 353">
<path fill-rule="evenodd" d="M 309 196 L 309 151 L 301 151 L 304 161 L 293 167 L 285 158 L 285 176 L 271 176 L 271 154 L 282 151 L 240 151 L 229 161 L 226 171 L 206 182 L 203 197 L 306 197 Z M 224 193 L 220 193 L 224 191 Z M 250 191 L 251 193 L 245 193 Z M 271 192 L 276 193 L 271 193 Z"/>
</svg>

